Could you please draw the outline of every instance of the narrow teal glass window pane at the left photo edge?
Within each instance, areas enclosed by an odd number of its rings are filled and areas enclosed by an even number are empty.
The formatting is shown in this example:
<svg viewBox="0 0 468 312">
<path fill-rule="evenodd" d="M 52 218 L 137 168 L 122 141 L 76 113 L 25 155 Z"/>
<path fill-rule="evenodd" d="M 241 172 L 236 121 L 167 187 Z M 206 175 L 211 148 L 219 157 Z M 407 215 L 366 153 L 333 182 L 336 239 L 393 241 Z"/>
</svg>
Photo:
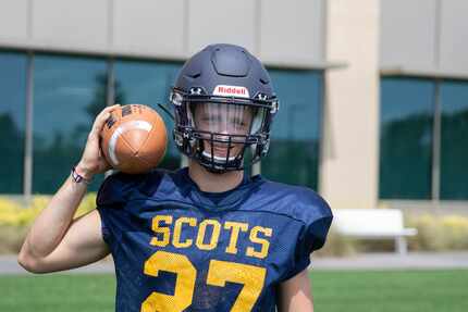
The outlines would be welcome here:
<svg viewBox="0 0 468 312">
<path fill-rule="evenodd" d="M 0 52 L 1 194 L 23 192 L 26 66 L 25 54 Z"/>
</svg>

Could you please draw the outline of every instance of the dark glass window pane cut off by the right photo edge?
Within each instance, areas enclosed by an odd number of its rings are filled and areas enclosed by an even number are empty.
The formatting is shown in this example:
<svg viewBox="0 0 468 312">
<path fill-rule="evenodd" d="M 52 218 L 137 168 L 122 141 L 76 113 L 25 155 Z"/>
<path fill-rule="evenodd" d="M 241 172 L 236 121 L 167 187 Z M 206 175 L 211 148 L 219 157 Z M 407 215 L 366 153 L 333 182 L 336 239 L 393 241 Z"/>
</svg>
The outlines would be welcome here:
<svg viewBox="0 0 468 312">
<path fill-rule="evenodd" d="M 468 83 L 441 84 L 441 199 L 468 199 Z"/>
</svg>

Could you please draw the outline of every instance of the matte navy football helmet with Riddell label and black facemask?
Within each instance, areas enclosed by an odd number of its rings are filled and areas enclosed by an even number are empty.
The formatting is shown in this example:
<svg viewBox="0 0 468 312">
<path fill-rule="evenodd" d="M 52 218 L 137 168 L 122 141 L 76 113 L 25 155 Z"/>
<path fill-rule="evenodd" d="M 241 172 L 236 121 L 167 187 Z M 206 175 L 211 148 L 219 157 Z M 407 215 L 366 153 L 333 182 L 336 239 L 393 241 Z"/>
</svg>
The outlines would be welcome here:
<svg viewBox="0 0 468 312">
<path fill-rule="evenodd" d="M 268 72 L 246 49 L 212 45 L 196 53 L 170 101 L 177 148 L 210 172 L 243 170 L 267 154 L 279 102 Z"/>
</svg>

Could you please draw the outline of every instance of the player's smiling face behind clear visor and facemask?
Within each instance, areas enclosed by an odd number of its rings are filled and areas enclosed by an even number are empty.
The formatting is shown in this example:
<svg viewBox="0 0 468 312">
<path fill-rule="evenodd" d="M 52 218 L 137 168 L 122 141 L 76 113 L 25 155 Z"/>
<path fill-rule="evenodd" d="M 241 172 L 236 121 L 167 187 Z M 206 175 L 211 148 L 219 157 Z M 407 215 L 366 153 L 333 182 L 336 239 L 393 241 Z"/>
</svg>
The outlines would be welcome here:
<svg viewBox="0 0 468 312">
<path fill-rule="evenodd" d="M 214 142 L 210 135 L 206 135 L 204 150 L 215 158 L 227 157 L 232 159 L 242 152 L 244 137 L 250 134 L 253 123 L 253 111 L 250 107 L 237 104 L 202 103 L 195 109 L 195 126 L 198 130 L 214 133 Z M 229 136 L 231 136 L 231 148 L 229 148 Z M 239 136 L 239 137 L 236 137 Z"/>
</svg>

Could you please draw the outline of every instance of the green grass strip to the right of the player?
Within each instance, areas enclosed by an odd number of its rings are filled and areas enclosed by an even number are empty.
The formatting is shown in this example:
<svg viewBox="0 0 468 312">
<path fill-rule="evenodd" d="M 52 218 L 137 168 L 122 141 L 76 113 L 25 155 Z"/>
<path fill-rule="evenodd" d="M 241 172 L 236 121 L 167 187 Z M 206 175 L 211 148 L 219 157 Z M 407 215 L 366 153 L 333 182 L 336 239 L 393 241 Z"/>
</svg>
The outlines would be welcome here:
<svg viewBox="0 0 468 312">
<path fill-rule="evenodd" d="M 316 311 L 468 311 L 468 271 L 311 273 Z"/>
</svg>

